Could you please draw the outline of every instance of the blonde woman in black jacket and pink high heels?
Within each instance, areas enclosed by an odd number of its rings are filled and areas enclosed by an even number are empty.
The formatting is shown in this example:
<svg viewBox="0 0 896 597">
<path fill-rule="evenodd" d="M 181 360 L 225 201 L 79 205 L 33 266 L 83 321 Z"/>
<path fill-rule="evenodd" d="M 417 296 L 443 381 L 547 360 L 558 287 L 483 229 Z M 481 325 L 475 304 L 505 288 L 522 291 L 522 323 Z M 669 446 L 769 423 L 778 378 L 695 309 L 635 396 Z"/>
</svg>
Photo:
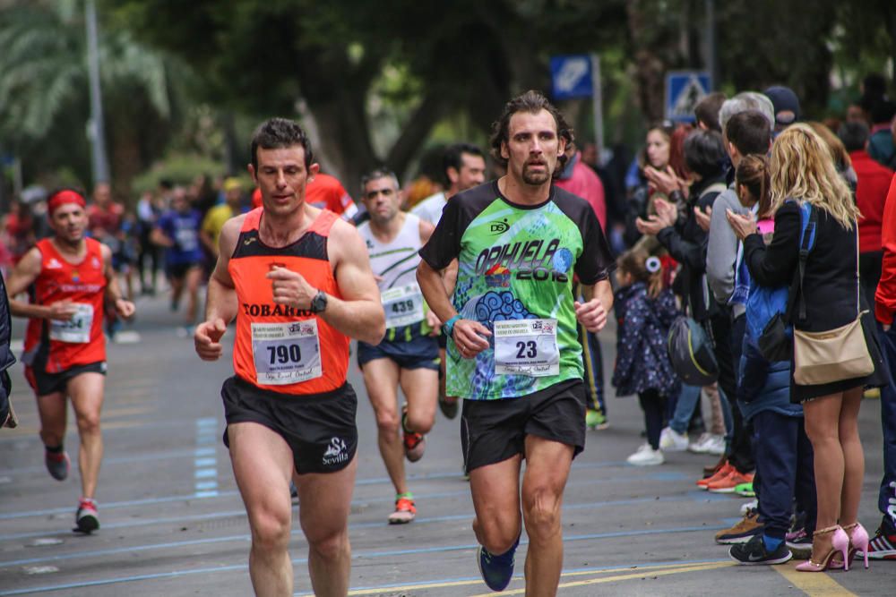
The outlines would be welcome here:
<svg viewBox="0 0 896 597">
<path fill-rule="evenodd" d="M 811 205 L 811 219 L 816 221 L 814 244 L 801 258 L 804 203 Z M 775 227 L 768 247 L 762 235 L 756 234 L 752 217 L 728 211 L 728 221 L 744 240 L 750 275 L 762 286 L 790 285 L 791 311 L 799 311 L 789 317 L 794 335 L 799 337 L 795 351 L 806 345 L 800 338 L 813 332 L 835 334 L 860 321 L 858 342 L 864 337 L 866 357 L 870 357 L 863 360 L 866 365 L 857 368 L 858 375 L 844 373 L 840 379 L 827 375 L 833 379 L 821 381 L 816 379 L 820 376 L 803 373 L 805 357 L 796 358 L 790 369 L 790 401 L 803 405 L 806 433 L 814 451 L 818 502 L 812 556 L 797 570 L 821 572 L 849 567 L 855 550 L 867 548 L 868 534 L 857 518 L 865 476 L 858 409 L 862 389 L 883 385 L 886 371 L 874 321 L 869 319 L 858 285 L 858 209 L 849 186 L 837 173 L 831 151 L 806 124 L 788 127 L 771 148 L 771 209 Z M 799 269 L 803 269 L 802 275 Z M 843 369 L 839 365 L 833 363 L 829 372 Z"/>
</svg>

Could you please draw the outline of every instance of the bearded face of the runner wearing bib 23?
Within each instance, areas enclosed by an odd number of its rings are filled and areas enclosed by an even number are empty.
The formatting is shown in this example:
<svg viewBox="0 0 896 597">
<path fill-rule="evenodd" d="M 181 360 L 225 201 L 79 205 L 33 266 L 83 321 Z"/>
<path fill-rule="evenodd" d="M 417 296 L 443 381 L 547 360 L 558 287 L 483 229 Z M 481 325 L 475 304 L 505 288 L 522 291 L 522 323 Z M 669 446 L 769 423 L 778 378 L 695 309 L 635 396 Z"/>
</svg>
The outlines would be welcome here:
<svg viewBox="0 0 896 597">
<path fill-rule="evenodd" d="M 511 116 L 507 132 L 501 148 L 507 159 L 507 175 L 533 186 L 549 183 L 557 158 L 565 149 L 554 116 L 547 110 L 538 114 L 517 112 Z"/>
</svg>

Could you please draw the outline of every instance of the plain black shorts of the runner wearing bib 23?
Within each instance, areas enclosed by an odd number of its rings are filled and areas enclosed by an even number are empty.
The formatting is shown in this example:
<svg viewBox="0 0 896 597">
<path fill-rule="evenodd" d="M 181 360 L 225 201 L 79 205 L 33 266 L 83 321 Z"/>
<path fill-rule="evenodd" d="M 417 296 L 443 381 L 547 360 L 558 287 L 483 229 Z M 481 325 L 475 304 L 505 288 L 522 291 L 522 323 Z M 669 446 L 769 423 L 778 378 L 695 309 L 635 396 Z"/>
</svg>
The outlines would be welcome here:
<svg viewBox="0 0 896 597">
<path fill-rule="evenodd" d="M 582 380 L 569 380 L 519 398 L 464 400 L 464 470 L 525 454 L 527 435 L 573 446 L 573 458 L 578 456 L 585 448 L 586 399 Z"/>
</svg>

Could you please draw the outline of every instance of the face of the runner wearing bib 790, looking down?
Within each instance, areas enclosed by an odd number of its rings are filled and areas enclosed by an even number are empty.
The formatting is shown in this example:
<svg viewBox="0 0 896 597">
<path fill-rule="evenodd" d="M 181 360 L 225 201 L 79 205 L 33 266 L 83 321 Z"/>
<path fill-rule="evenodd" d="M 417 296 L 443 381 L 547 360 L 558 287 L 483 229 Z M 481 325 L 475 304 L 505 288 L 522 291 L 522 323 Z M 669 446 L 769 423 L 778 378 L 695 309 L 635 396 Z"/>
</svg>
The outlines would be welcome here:
<svg viewBox="0 0 896 597">
<path fill-rule="evenodd" d="M 305 148 L 256 150 L 258 170 L 249 166 L 249 174 L 262 192 L 264 211 L 274 216 L 289 216 L 305 204 L 307 183 L 314 180 L 317 165 L 305 167 Z"/>
</svg>

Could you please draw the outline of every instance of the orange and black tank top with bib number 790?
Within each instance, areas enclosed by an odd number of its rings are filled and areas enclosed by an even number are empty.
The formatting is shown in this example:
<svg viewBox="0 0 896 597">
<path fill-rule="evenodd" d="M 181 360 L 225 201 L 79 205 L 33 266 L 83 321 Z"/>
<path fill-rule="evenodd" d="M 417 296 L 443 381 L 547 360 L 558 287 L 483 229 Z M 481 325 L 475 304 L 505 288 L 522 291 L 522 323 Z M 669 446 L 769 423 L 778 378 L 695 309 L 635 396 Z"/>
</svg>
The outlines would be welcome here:
<svg viewBox="0 0 896 597">
<path fill-rule="evenodd" d="M 270 247 L 258 235 L 263 209 L 246 214 L 228 272 L 237 288 L 237 376 L 282 394 L 307 396 L 342 387 L 349 369 L 349 337 L 311 311 L 273 302 L 267 273 L 274 266 L 301 274 L 308 284 L 341 298 L 327 254 L 339 218 L 323 210 L 306 233 L 285 247 Z"/>
</svg>

